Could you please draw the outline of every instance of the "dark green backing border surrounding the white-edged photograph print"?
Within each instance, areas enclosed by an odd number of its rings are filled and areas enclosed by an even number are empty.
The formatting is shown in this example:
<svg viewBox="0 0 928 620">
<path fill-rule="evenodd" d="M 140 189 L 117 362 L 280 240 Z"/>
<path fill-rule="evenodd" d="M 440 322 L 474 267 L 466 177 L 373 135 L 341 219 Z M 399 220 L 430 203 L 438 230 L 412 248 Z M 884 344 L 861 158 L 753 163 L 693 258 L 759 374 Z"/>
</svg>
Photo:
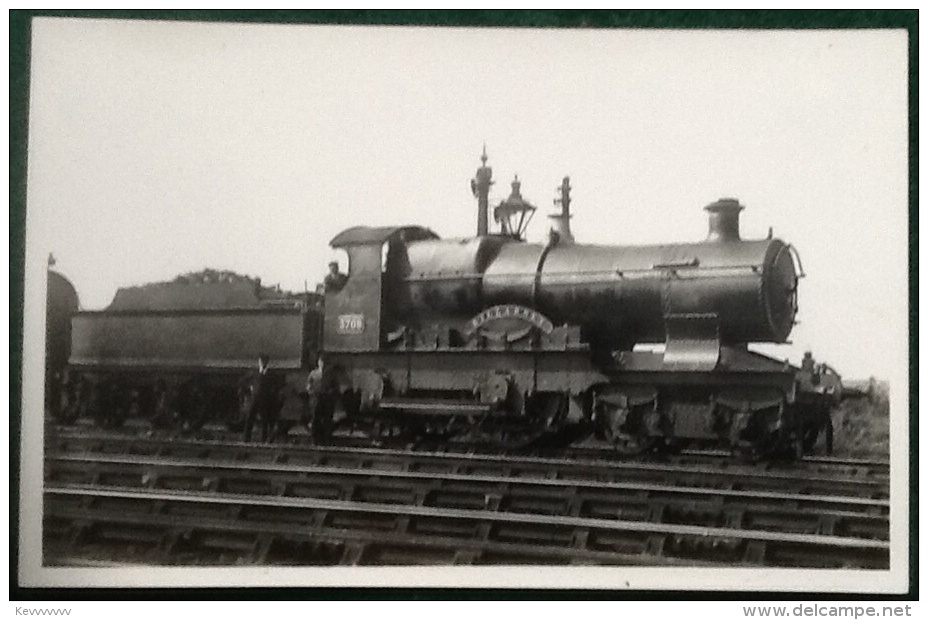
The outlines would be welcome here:
<svg viewBox="0 0 928 620">
<path fill-rule="evenodd" d="M 863 600 L 802 592 L 451 588 L 49 589 L 19 585 L 19 462 L 29 67 L 33 17 L 484 28 L 905 29 L 909 35 L 909 591 L 918 599 L 918 10 L 10 10 L 10 600 Z"/>
</svg>

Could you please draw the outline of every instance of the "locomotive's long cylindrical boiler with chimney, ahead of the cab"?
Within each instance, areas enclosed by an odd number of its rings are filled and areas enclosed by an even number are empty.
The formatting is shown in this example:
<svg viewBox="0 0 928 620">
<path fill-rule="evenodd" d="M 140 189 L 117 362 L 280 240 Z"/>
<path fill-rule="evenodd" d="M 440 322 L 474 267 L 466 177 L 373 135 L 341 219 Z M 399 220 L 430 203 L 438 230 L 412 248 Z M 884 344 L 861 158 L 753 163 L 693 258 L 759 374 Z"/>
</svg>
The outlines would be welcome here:
<svg viewBox="0 0 928 620">
<path fill-rule="evenodd" d="M 517 185 L 517 183 L 516 183 Z M 518 195 L 514 188 L 510 204 Z M 798 275 L 779 239 L 742 241 L 731 199 L 706 207 L 702 243 L 641 247 L 524 243 L 506 235 L 406 245 L 405 289 L 388 312 L 447 323 L 516 304 L 582 329 L 604 351 L 676 344 L 682 335 L 729 344 L 783 342 L 796 314 Z"/>
</svg>

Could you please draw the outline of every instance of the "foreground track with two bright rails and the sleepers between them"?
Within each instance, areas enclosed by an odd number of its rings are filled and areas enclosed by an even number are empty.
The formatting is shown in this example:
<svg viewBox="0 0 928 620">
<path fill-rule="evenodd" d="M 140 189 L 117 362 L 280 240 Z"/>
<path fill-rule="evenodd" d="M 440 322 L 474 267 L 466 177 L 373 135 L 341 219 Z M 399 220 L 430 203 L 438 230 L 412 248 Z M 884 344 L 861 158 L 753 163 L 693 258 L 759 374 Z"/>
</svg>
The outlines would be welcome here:
<svg viewBox="0 0 928 620">
<path fill-rule="evenodd" d="M 492 506 L 518 513 L 622 516 L 635 521 L 889 538 L 888 502 L 855 497 L 138 456 L 51 457 L 46 473 L 48 484 L 94 483 L 441 508 Z"/>
</svg>

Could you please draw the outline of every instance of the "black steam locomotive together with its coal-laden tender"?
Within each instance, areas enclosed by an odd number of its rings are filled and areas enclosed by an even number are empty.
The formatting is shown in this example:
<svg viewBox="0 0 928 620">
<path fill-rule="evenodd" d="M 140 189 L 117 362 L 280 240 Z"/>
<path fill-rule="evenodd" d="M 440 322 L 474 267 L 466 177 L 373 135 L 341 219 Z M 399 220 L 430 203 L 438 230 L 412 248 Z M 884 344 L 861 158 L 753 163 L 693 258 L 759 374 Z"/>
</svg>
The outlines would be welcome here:
<svg viewBox="0 0 928 620">
<path fill-rule="evenodd" d="M 789 244 L 740 238 L 737 200 L 705 208 L 701 242 L 581 244 L 565 178 L 548 240 L 529 243 L 536 207 L 518 179 L 489 231 L 491 184 L 484 153 L 474 237 L 338 234 L 330 245 L 349 270 L 319 293 L 208 272 L 75 313 L 58 415 L 235 426 L 248 407 L 241 377 L 264 354 L 278 429 L 305 425 L 317 441 L 363 431 L 517 449 L 595 433 L 624 453 L 770 455 L 830 439 L 837 388 L 825 367 L 748 349 L 786 340 L 803 273 Z"/>
</svg>

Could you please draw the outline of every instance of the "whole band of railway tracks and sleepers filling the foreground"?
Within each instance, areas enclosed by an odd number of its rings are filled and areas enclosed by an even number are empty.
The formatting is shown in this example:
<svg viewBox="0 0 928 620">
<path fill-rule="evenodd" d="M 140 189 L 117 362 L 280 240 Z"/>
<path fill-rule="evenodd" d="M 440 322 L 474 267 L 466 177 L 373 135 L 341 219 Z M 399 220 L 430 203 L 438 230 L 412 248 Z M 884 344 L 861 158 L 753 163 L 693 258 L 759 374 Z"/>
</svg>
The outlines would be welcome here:
<svg viewBox="0 0 928 620">
<path fill-rule="evenodd" d="M 154 562 L 888 565 L 872 475 L 805 472 L 818 482 L 797 489 L 796 472 L 730 466 L 86 434 L 49 448 L 51 539 Z"/>
</svg>

